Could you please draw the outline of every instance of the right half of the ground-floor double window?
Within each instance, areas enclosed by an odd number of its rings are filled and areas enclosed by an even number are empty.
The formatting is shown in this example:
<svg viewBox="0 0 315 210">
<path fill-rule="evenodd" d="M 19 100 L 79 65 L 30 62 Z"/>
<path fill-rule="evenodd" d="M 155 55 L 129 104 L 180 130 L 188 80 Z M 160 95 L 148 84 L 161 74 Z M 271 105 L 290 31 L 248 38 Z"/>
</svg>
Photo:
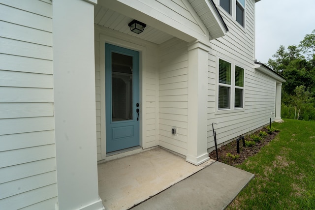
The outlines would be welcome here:
<svg viewBox="0 0 315 210">
<path fill-rule="evenodd" d="M 244 94 L 244 69 L 235 66 L 235 91 L 234 91 L 234 107 L 243 108 Z"/>
</svg>

